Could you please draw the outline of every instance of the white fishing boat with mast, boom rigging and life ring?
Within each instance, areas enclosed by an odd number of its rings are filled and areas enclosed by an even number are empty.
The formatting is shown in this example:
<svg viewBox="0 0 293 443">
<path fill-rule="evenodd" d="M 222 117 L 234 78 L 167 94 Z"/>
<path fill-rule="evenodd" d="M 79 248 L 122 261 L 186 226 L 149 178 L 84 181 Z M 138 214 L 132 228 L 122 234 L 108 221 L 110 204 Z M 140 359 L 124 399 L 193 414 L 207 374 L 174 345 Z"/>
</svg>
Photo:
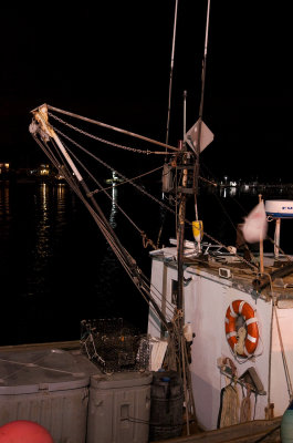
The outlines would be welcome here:
<svg viewBox="0 0 293 443">
<path fill-rule="evenodd" d="M 176 2 L 175 17 L 177 4 L 178 2 Z M 282 415 L 293 399 L 291 343 L 293 266 L 292 257 L 285 255 L 280 248 L 281 220 L 293 218 L 293 202 L 266 200 L 264 203 L 260 196 L 255 208 L 239 227 L 234 245 L 224 245 L 203 230 L 203 223 L 198 216 L 197 198 L 200 153 L 213 140 L 212 132 L 202 121 L 209 8 L 208 2 L 199 115 L 189 131 L 185 127 L 186 116 L 184 116 L 184 140 L 178 143 L 178 146 L 170 145 L 168 138 L 170 95 L 167 136 L 164 143 L 49 104 L 42 104 L 32 111 L 30 133 L 84 204 L 137 291 L 146 299 L 149 306 L 147 333 L 154 340 L 153 349 L 157 350 L 156 368 L 153 361 L 153 365 L 148 368 L 150 373 L 155 372 L 159 383 L 165 383 L 167 387 L 171 380 L 170 371 L 178 374 L 182 392 L 181 403 L 179 403 L 182 412 L 181 421 L 174 423 L 172 426 L 155 423 L 155 427 L 157 426 L 157 431 L 160 432 L 155 434 L 153 440 L 158 441 L 161 436 L 165 441 L 174 437 L 172 441 L 178 442 L 227 442 L 228 440 L 252 442 L 257 439 L 273 436 L 274 441 L 278 441 Z M 171 70 L 172 61 L 174 51 Z M 172 71 L 169 91 L 171 91 L 171 79 Z M 63 120 L 66 117 L 70 122 Z M 102 140 L 85 127 L 77 128 L 72 123 L 73 119 L 77 119 L 81 124 L 94 124 L 97 128 L 102 127 L 135 138 L 151 147 L 156 146 L 157 151 Z M 157 155 L 157 158 L 164 157 L 165 162 L 147 173 L 139 172 L 135 177 L 127 178 L 92 154 L 80 142 L 75 142 L 72 136 L 66 135 L 60 128 L 62 125 L 77 131 L 80 135 L 87 136 L 87 140 L 114 145 L 122 152 Z M 163 213 L 175 216 L 176 238 L 170 238 L 167 246 L 161 246 L 159 238 L 157 243 L 151 240 L 150 236 L 139 228 L 117 203 L 115 204 L 138 231 L 145 248 L 153 248 L 149 253 L 150 279 L 123 246 L 98 204 L 98 195 L 103 194 L 112 199 L 111 193 L 101 185 L 87 165 L 73 152 L 73 147 L 106 167 L 113 174 L 113 179 L 111 179 L 113 186 L 117 187 L 118 184 L 133 186 L 135 192 L 140 192 L 158 204 Z M 163 171 L 163 198 L 150 195 L 145 187 L 137 184 L 138 178 L 158 171 L 160 173 Z M 190 202 L 193 207 L 192 222 L 187 219 L 187 204 Z M 275 223 L 275 237 L 272 241 L 273 251 L 264 254 L 263 241 L 266 239 L 268 218 Z M 188 236 L 187 227 L 189 228 Z M 191 228 L 193 236 L 190 236 Z M 251 244 L 259 245 L 257 253 L 255 247 L 251 251 Z M 69 343 L 63 343 L 62 352 L 69 347 Z M 25 352 L 25 349 L 22 351 Z M 56 351 L 55 348 L 51 349 L 50 359 L 55 359 L 55 356 L 62 352 Z M 72 357 L 72 350 L 70 352 L 71 360 L 72 358 L 76 360 L 76 354 L 73 353 Z M 41 358 L 49 361 L 48 356 L 42 354 Z M 81 357 L 79 359 L 81 361 Z M 31 360 L 25 361 L 25 364 L 31 364 Z M 66 370 L 63 365 L 56 369 L 54 364 L 53 371 Z M 82 364 L 85 368 L 84 361 Z M 88 383 L 90 378 L 101 375 L 95 373 L 93 367 L 88 368 L 84 379 L 81 374 L 79 377 L 75 374 L 80 383 L 76 387 L 85 388 L 85 379 Z M 145 373 L 143 381 L 135 381 L 134 377 L 130 377 L 126 384 L 122 383 L 119 377 L 117 380 L 111 379 L 111 374 L 104 374 L 102 379 L 102 382 L 108 383 L 111 390 L 123 388 L 125 395 L 128 395 L 127 392 L 133 391 L 134 387 L 144 387 L 142 388 L 144 394 L 138 395 L 138 403 L 146 403 L 149 387 L 146 391 L 145 385 L 149 384 L 151 379 L 148 378 L 148 372 Z M 96 379 L 91 383 L 94 387 L 97 383 Z M 146 404 L 144 408 L 144 414 L 146 414 L 149 408 L 146 408 Z M 106 411 L 112 413 L 109 410 Z M 91 413 L 90 411 L 88 414 Z M 128 406 L 123 406 L 121 413 L 125 429 L 129 427 L 130 421 L 134 420 L 132 415 L 134 412 L 130 414 Z M 136 423 L 148 426 L 149 418 L 147 419 L 144 414 L 135 415 Z M 90 415 L 86 415 L 85 421 Z M 151 420 L 150 426 L 154 427 L 155 419 Z M 195 425 L 197 435 L 193 434 Z M 168 434 L 170 427 L 172 427 L 172 433 Z M 182 435 L 182 430 L 185 430 L 185 435 Z M 96 432 L 93 422 L 90 427 L 87 426 L 87 434 L 88 432 L 90 434 Z M 91 440 L 88 435 L 88 442 L 100 441 L 94 437 Z M 128 435 L 126 431 L 125 435 Z M 139 439 L 139 435 L 140 440 L 132 441 L 147 441 L 148 432 L 142 431 L 142 427 L 136 439 Z M 95 439 L 97 439 L 96 435 Z"/>
</svg>

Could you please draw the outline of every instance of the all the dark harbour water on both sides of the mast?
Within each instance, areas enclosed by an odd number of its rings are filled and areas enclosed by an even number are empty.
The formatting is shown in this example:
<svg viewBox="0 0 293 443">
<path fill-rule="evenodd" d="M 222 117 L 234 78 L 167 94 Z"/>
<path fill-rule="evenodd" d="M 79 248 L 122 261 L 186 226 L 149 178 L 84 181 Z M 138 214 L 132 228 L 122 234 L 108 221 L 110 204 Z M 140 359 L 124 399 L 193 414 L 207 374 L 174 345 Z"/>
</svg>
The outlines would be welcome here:
<svg viewBox="0 0 293 443">
<path fill-rule="evenodd" d="M 165 219 L 154 205 L 143 199 L 134 204 L 123 190 L 115 192 L 116 204 L 150 238 L 157 238 L 164 220 L 161 240 L 167 244 L 175 233 L 174 217 Z M 264 198 L 291 197 L 280 190 L 263 194 Z M 199 215 L 207 233 L 233 245 L 237 223 L 257 204 L 257 192 L 205 192 L 199 196 Z M 139 235 L 115 204 L 106 208 L 106 215 L 123 245 L 149 275 L 149 249 L 144 249 Z M 273 229 L 270 224 L 272 236 Z M 281 247 L 287 254 L 293 250 L 292 229 L 293 222 L 282 222 Z M 191 231 L 187 229 L 188 237 Z M 0 182 L 0 344 L 79 339 L 81 320 L 94 318 L 122 317 L 146 330 L 146 302 L 66 185 Z"/>
</svg>

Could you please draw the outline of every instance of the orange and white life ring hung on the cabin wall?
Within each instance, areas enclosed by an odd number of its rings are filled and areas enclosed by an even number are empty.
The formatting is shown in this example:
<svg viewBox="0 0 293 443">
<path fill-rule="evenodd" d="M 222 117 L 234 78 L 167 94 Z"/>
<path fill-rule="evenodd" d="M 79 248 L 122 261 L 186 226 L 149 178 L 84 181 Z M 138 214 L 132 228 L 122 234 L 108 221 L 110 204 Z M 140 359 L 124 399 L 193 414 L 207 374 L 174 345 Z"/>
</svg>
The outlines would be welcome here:
<svg viewBox="0 0 293 443">
<path fill-rule="evenodd" d="M 239 339 L 237 330 L 237 318 L 243 318 L 245 333 L 244 343 L 239 349 Z M 240 357 L 252 357 L 255 352 L 259 342 L 259 326 L 258 319 L 254 317 L 253 308 L 244 300 L 234 300 L 229 305 L 226 312 L 224 329 L 227 341 L 234 353 Z"/>
</svg>

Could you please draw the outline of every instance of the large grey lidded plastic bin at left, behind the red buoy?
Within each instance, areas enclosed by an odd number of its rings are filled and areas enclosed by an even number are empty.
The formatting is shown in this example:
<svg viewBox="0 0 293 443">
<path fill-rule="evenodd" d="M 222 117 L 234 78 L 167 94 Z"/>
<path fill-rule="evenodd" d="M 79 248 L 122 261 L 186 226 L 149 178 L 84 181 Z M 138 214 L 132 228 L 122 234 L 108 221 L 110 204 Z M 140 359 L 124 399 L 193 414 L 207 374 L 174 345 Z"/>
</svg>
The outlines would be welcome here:
<svg viewBox="0 0 293 443">
<path fill-rule="evenodd" d="M 90 377 L 97 372 L 79 352 L 0 352 L 0 425 L 30 420 L 54 443 L 84 443 Z"/>
</svg>

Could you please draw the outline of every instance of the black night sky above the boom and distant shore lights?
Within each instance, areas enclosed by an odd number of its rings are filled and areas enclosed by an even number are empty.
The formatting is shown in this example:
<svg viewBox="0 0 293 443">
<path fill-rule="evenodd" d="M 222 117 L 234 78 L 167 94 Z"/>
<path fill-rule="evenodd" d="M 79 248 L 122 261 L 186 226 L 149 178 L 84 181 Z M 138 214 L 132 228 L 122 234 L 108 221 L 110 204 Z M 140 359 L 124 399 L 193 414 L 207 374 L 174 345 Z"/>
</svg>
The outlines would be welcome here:
<svg viewBox="0 0 293 443">
<path fill-rule="evenodd" d="M 1 159 L 30 166 L 30 111 L 49 103 L 165 140 L 175 0 L 1 7 Z M 206 8 L 179 0 L 170 143 L 198 119 Z M 211 0 L 203 121 L 216 175 L 291 178 L 290 2 Z"/>
</svg>

